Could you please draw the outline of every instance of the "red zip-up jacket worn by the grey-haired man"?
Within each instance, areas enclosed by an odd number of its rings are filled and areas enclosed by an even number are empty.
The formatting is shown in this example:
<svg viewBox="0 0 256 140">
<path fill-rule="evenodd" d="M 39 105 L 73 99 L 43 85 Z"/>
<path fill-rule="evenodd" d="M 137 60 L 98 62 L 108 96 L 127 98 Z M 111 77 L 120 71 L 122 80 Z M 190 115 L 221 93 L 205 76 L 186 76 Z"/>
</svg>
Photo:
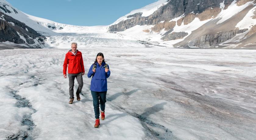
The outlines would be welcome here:
<svg viewBox="0 0 256 140">
<path fill-rule="evenodd" d="M 80 72 L 84 72 L 84 61 L 82 53 L 78 50 L 76 52 L 76 55 L 74 55 L 71 51 L 66 53 L 63 64 L 63 74 L 67 74 L 67 66 L 69 67 L 68 73 L 77 74 Z"/>
</svg>

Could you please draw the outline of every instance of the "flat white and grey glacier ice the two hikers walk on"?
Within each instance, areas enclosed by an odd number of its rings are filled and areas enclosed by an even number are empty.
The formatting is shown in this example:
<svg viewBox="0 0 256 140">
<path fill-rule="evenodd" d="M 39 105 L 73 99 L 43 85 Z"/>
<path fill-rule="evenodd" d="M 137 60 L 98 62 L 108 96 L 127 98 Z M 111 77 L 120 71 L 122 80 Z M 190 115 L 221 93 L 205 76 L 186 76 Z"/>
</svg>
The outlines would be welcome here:
<svg viewBox="0 0 256 140">
<path fill-rule="evenodd" d="M 68 104 L 62 65 L 69 46 L 1 51 L 1 138 L 28 131 L 20 123 L 24 114 L 31 114 L 35 126 L 29 134 L 35 139 L 255 137 L 254 50 L 78 44 L 86 74 L 98 52 L 111 70 L 106 119 L 95 129 L 91 79 L 83 77 L 81 101 Z M 16 107 L 12 91 L 26 98 L 35 113 Z"/>
</svg>

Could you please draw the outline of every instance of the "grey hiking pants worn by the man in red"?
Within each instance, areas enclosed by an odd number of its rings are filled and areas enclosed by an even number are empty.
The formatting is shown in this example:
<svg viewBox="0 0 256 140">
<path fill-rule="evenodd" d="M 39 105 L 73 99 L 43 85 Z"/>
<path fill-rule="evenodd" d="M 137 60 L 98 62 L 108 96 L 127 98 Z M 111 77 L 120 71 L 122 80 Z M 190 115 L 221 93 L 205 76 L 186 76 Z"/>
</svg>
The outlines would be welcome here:
<svg viewBox="0 0 256 140">
<path fill-rule="evenodd" d="M 75 78 L 76 81 L 78 82 L 78 88 L 76 90 L 76 94 L 81 93 L 84 82 L 83 82 L 83 77 L 82 77 L 82 72 L 77 73 L 77 74 L 72 74 L 69 73 L 69 95 L 70 99 L 74 98 L 74 83 L 75 83 Z"/>
</svg>

